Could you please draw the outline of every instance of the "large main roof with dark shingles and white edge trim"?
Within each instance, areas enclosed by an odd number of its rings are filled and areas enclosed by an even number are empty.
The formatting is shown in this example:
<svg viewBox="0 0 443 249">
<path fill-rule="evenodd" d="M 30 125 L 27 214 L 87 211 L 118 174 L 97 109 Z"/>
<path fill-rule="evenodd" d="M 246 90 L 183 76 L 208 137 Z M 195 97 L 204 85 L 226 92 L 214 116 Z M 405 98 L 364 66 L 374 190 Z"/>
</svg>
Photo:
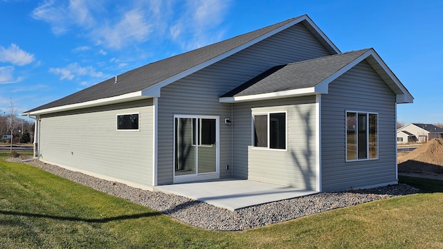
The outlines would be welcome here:
<svg viewBox="0 0 443 249">
<path fill-rule="evenodd" d="M 242 46 L 251 46 L 256 42 L 260 42 L 260 40 L 273 35 L 273 33 L 277 33 L 280 30 L 289 28 L 302 21 L 332 54 L 340 53 L 338 48 L 336 48 L 329 38 L 316 27 L 314 22 L 311 21 L 307 15 L 302 15 L 300 17 L 287 19 L 278 24 L 260 28 L 244 35 L 226 39 L 216 44 L 141 66 L 140 68 L 118 75 L 116 78 L 112 77 L 109 80 L 105 80 L 104 82 L 90 86 L 87 89 L 68 95 L 60 100 L 55 100 L 54 102 L 26 111 L 21 115 L 33 115 L 33 112 L 35 111 L 42 112 L 41 110 L 57 109 L 57 107 L 67 105 L 82 106 L 80 103 L 143 91 L 173 78 L 178 80 L 181 75 L 186 76 L 187 71 L 192 71 L 193 68 L 198 68 L 199 65 L 208 62 L 217 62 L 219 57 L 219 59 L 222 59 L 223 55 L 226 55 L 231 51 L 236 49 L 241 50 Z M 159 90 L 157 89 L 156 91 Z"/>
</svg>

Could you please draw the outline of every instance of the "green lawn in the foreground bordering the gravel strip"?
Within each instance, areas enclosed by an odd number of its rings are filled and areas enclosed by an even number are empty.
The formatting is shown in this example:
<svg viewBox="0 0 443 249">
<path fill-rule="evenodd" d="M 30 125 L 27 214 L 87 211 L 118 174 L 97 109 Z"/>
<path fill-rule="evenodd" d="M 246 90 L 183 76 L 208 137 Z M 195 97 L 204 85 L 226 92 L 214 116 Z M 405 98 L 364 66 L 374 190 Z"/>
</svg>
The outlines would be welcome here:
<svg viewBox="0 0 443 249">
<path fill-rule="evenodd" d="M 443 248 L 443 182 L 242 232 L 191 227 L 0 152 L 0 248 Z"/>
</svg>

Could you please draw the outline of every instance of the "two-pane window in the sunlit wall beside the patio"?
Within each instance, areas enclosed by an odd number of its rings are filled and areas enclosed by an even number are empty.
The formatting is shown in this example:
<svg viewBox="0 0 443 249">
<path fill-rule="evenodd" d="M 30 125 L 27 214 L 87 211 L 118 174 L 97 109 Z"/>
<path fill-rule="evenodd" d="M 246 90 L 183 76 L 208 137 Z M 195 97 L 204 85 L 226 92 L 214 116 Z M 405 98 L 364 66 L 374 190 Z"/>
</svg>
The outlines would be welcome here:
<svg viewBox="0 0 443 249">
<path fill-rule="evenodd" d="M 286 149 L 286 113 L 253 115 L 254 147 Z"/>
</svg>

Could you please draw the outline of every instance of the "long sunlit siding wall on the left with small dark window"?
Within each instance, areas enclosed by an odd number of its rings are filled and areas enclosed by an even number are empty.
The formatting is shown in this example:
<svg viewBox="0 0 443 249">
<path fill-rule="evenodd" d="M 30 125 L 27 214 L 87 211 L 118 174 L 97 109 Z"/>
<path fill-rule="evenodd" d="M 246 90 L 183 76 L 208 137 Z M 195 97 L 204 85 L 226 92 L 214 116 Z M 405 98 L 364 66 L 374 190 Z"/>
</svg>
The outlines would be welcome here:
<svg viewBox="0 0 443 249">
<path fill-rule="evenodd" d="M 152 99 L 41 116 L 42 160 L 152 186 Z M 140 113 L 139 131 L 117 131 L 117 115 Z"/>
</svg>

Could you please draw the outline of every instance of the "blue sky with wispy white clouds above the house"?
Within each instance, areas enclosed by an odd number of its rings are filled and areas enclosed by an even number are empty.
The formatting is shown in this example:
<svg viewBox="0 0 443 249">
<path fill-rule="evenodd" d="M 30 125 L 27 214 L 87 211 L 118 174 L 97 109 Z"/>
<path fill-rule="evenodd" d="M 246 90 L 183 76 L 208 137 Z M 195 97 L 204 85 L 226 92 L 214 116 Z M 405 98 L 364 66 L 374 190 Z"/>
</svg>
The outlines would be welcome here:
<svg viewBox="0 0 443 249">
<path fill-rule="evenodd" d="M 0 0 L 0 111 L 303 14 L 342 52 L 379 53 L 415 98 L 397 120 L 443 122 L 440 0 Z"/>
</svg>

